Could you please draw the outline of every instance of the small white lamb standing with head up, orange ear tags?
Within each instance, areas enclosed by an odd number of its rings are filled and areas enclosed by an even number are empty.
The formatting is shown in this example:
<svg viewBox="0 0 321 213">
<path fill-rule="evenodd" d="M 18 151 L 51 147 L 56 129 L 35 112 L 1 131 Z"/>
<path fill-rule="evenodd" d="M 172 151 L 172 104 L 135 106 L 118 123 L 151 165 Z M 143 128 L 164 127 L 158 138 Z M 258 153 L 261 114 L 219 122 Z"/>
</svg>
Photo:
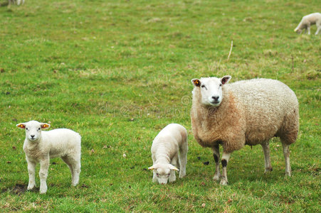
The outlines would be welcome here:
<svg viewBox="0 0 321 213">
<path fill-rule="evenodd" d="M 60 157 L 69 166 L 72 175 L 72 185 L 79 182 L 81 137 L 79 133 L 70 129 L 48 129 L 50 124 L 28 121 L 17 124 L 20 129 L 26 129 L 26 139 L 23 143 L 23 151 L 26 153 L 28 163 L 29 183 L 28 190 L 36 186 L 35 168 L 40 163 L 40 193 L 47 192 L 47 176 L 50 158 Z"/>
</svg>

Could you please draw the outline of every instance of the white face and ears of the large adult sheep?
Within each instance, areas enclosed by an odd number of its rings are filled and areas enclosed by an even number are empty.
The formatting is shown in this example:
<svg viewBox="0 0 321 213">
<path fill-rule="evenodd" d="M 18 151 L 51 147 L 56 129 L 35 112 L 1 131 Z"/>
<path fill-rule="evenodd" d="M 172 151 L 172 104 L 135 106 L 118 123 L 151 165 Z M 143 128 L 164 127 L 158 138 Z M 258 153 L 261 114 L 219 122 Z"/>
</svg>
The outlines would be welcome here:
<svg viewBox="0 0 321 213">
<path fill-rule="evenodd" d="M 199 89 L 201 94 L 201 104 L 206 106 L 219 107 L 223 99 L 222 87 L 231 80 L 231 76 L 226 75 L 221 78 L 202 77 L 201 79 L 193 79 L 195 89 Z"/>
</svg>

